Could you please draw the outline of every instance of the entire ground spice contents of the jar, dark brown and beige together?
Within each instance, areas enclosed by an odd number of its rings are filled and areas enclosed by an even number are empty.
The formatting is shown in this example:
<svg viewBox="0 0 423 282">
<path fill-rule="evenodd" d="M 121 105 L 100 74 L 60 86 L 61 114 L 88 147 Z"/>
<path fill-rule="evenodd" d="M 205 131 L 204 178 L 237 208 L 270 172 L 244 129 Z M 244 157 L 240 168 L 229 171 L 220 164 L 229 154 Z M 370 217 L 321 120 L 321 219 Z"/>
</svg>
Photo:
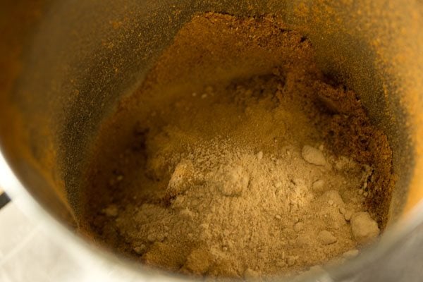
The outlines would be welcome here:
<svg viewBox="0 0 423 282">
<path fill-rule="evenodd" d="M 386 136 L 277 18 L 196 16 L 101 130 L 96 240 L 184 274 L 268 276 L 357 255 L 386 223 Z"/>
</svg>

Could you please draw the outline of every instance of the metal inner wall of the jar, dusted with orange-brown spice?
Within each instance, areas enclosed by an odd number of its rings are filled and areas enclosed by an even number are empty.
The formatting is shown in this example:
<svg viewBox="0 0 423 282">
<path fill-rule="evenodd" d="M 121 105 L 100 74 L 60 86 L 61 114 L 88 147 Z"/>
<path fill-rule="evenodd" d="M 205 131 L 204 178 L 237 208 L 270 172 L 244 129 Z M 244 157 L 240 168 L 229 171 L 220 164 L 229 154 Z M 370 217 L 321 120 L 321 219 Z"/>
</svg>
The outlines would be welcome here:
<svg viewBox="0 0 423 282">
<path fill-rule="evenodd" d="M 31 195 L 68 226 L 78 222 L 80 176 L 99 124 L 140 84 L 178 29 L 203 11 L 276 13 L 307 35 L 321 68 L 360 94 L 388 135 L 398 176 L 390 223 L 422 197 L 420 1 L 21 0 L 1 3 L 0 11 L 1 152 Z M 376 257 L 420 221 L 421 213 L 400 221 L 395 240 L 376 245 L 358 269 L 388 265 Z M 348 265 L 333 273 L 347 277 Z"/>
</svg>

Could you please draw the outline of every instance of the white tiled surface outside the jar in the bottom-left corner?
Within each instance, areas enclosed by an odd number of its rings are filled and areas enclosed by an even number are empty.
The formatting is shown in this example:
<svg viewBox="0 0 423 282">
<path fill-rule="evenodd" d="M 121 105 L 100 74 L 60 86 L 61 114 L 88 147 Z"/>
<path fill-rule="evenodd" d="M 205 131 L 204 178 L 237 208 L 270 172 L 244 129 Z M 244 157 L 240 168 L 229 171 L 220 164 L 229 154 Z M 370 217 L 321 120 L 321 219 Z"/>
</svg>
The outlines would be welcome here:
<svg viewBox="0 0 423 282">
<path fill-rule="evenodd" d="M 79 281 L 78 262 L 13 202 L 0 209 L 0 281 Z"/>
</svg>

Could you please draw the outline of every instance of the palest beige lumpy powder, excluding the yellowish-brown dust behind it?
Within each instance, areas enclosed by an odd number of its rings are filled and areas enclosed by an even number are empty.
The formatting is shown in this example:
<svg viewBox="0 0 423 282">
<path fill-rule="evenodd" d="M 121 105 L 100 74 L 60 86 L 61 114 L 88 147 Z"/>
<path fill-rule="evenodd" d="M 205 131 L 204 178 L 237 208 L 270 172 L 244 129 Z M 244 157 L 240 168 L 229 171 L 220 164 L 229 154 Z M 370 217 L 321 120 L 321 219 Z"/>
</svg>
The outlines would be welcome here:
<svg viewBox="0 0 423 282">
<path fill-rule="evenodd" d="M 168 133 L 192 134 L 177 127 L 168 128 Z M 166 154 L 166 158 L 160 159 L 166 159 L 170 167 L 171 160 L 177 160 L 166 190 L 173 183 L 183 183 L 184 189 L 173 193 L 169 212 L 163 214 L 162 207 L 151 205 L 152 210 L 141 209 L 142 218 L 148 219 L 145 223 L 137 225 L 139 221 L 132 221 L 135 226 L 118 225 L 118 230 L 131 241 L 147 245 L 159 241 L 176 250 L 186 249 L 179 253 L 178 261 L 185 262 L 180 271 L 193 274 L 223 275 L 231 269 L 230 276 L 253 276 L 252 271 L 274 267 L 271 263 L 274 260 L 278 268 L 299 266 L 302 264 L 299 258 L 305 256 L 309 247 L 319 250 L 315 257 L 307 255 L 307 261 L 314 263 L 329 251 L 325 250 L 328 246 L 335 246 L 340 254 L 345 252 L 345 245 L 355 245 L 350 227 L 338 210 L 347 204 L 338 190 L 314 193 L 305 172 L 311 179 L 319 176 L 337 186 L 345 180 L 354 183 L 360 177 L 345 178 L 334 169 L 307 164 L 301 158 L 300 146 L 289 142 L 289 154 L 278 157 L 263 154 L 257 158 L 254 149 L 238 147 L 233 140 L 219 137 L 195 141 L 182 154 L 168 154 L 169 145 L 178 145 L 169 139 L 154 156 Z M 191 156 L 191 160 L 187 161 L 186 156 Z M 334 159 L 330 154 L 328 157 Z M 360 186 L 360 180 L 356 183 Z M 342 191 L 348 195 L 347 190 Z M 348 207 L 359 210 L 360 204 L 350 202 Z M 133 213 L 133 208 L 126 212 Z M 120 217 L 121 222 L 125 217 Z M 171 231 L 166 238 L 161 235 L 164 224 Z M 259 255 L 245 250 L 256 250 Z M 142 259 L 148 264 L 160 264 L 157 254 L 151 252 L 159 251 L 152 247 Z M 283 252 L 285 257 L 281 257 Z"/>
</svg>

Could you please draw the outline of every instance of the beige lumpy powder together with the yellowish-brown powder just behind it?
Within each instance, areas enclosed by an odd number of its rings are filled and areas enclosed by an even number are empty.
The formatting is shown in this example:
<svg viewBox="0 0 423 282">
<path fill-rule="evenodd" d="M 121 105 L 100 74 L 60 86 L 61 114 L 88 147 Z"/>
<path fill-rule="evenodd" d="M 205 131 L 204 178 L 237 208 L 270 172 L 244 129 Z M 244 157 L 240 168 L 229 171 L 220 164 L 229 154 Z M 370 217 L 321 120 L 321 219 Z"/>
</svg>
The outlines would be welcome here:
<svg viewBox="0 0 423 282">
<path fill-rule="evenodd" d="M 243 276 L 249 269 L 274 274 L 356 247 L 345 214 L 364 209 L 358 192 L 367 166 L 333 156 L 323 141 L 304 145 L 307 137 L 286 133 L 301 127 L 311 137 L 321 136 L 301 109 L 245 94 L 238 90 L 240 97 L 234 97 L 246 99 L 240 104 L 218 102 L 217 94 L 209 102 L 189 99 L 174 109 L 180 120 L 168 121 L 164 131 L 147 139 L 154 142 L 147 142 L 147 148 L 154 146 L 147 169 L 167 185 L 154 197 L 159 204 L 121 207 L 116 228 L 135 252 L 142 249 L 137 253 L 148 264 L 213 276 Z M 202 125 L 212 115 L 209 127 L 216 136 L 208 140 L 200 132 L 209 130 Z M 272 144 L 242 145 L 257 132 L 251 128 L 257 116 Z M 228 119 L 234 119 L 231 130 L 219 134 Z M 116 215 L 112 212 L 109 216 Z M 169 259 L 168 252 L 177 255 Z"/>
</svg>

